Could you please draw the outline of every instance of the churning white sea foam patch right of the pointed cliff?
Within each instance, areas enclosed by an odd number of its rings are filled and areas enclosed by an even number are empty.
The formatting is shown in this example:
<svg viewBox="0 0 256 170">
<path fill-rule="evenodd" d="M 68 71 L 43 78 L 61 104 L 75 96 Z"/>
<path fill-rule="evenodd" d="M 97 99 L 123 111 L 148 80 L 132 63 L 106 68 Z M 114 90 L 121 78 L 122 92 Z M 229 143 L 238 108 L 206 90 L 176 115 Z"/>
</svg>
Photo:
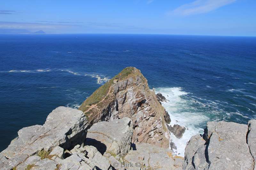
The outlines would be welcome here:
<svg viewBox="0 0 256 170">
<path fill-rule="evenodd" d="M 182 98 L 182 96 L 188 94 L 188 92 L 184 92 L 182 88 L 156 88 L 155 91 L 156 93 L 162 93 L 168 100 L 167 102 L 162 102 L 162 105 L 171 117 L 172 121 L 170 125 L 179 124 L 187 128 L 180 139 L 171 134 L 172 142 L 177 146 L 177 150 L 174 150 L 174 154 L 178 155 L 180 153 L 180 156 L 184 156 L 185 147 L 190 137 L 198 133 L 203 133 L 203 129 L 199 128 L 198 125 L 208 121 L 209 118 L 193 107 L 193 103 L 200 103 L 199 101 Z"/>
</svg>

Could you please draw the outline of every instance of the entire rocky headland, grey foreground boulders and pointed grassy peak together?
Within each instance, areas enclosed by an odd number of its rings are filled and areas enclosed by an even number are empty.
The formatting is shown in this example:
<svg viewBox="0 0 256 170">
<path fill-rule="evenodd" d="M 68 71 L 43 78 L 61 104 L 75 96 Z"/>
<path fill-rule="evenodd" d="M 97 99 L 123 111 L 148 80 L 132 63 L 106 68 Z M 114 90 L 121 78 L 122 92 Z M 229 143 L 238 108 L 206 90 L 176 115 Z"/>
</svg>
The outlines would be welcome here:
<svg viewBox="0 0 256 170">
<path fill-rule="evenodd" d="M 99 87 L 79 109 L 57 107 L 43 125 L 18 131 L 0 153 L 2 170 L 255 170 L 256 120 L 247 125 L 208 122 L 191 137 L 185 157 L 174 156 L 161 105 L 140 70 L 127 67 Z"/>
</svg>

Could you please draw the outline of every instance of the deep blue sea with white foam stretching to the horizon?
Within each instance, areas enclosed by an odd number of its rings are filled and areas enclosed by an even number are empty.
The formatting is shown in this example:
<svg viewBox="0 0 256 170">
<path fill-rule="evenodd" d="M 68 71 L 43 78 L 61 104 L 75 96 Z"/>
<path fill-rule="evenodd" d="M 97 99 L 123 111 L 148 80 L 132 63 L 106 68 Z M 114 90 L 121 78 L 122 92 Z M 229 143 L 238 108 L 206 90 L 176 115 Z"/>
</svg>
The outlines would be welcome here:
<svg viewBox="0 0 256 170">
<path fill-rule="evenodd" d="M 256 118 L 256 37 L 132 34 L 1 34 L 0 151 L 58 106 L 77 108 L 127 66 L 141 70 L 172 122 L 188 129 L 177 153 L 207 121 Z M 184 154 L 184 153 L 183 153 Z"/>
</svg>

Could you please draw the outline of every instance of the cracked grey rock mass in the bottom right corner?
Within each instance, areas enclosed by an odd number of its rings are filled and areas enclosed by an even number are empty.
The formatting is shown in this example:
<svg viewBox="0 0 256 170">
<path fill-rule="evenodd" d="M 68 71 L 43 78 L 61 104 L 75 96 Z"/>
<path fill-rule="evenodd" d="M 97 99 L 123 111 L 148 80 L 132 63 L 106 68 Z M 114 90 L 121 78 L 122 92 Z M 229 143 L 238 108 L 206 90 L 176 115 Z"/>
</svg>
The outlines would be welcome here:
<svg viewBox="0 0 256 170">
<path fill-rule="evenodd" d="M 253 170 L 256 121 L 207 122 L 204 134 L 191 137 L 185 149 L 184 170 Z"/>
</svg>

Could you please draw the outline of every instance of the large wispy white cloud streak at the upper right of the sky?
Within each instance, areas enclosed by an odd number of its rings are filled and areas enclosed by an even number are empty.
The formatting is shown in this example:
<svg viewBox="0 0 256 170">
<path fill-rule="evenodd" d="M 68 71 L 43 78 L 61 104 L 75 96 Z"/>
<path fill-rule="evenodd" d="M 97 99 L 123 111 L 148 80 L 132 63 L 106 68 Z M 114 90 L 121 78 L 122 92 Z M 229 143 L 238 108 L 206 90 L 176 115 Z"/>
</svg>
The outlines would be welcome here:
<svg viewBox="0 0 256 170">
<path fill-rule="evenodd" d="M 195 0 L 192 3 L 181 5 L 170 14 L 193 15 L 207 13 L 216 10 L 224 5 L 231 4 L 236 0 Z"/>
</svg>

